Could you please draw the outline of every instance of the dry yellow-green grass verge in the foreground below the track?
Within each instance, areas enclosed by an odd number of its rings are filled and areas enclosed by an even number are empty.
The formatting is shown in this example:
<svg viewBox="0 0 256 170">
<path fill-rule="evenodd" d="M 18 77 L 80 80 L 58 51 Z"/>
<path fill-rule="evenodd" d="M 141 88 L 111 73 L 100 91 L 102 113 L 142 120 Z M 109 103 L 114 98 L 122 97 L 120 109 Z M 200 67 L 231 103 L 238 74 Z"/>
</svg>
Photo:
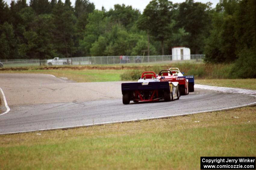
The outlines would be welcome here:
<svg viewBox="0 0 256 170">
<path fill-rule="evenodd" d="M 201 156 L 255 156 L 255 112 L 0 135 L 1 169 L 200 169 Z"/>
</svg>

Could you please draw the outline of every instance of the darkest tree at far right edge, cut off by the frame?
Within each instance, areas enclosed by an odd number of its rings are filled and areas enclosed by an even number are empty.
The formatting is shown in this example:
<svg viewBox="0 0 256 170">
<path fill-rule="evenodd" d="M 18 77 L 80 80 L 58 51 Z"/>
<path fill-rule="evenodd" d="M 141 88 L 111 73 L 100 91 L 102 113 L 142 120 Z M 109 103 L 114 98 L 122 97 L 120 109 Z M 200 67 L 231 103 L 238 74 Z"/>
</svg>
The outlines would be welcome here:
<svg viewBox="0 0 256 170">
<path fill-rule="evenodd" d="M 256 78 L 256 1 L 239 3 L 235 13 L 236 55 L 233 74 Z"/>
</svg>

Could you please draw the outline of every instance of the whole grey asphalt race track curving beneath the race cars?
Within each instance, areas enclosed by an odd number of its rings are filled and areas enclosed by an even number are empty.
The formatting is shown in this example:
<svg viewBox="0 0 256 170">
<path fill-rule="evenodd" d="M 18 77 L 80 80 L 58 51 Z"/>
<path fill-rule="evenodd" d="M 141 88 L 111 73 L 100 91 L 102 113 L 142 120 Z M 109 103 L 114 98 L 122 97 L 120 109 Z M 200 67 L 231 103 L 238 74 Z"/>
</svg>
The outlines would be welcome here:
<svg viewBox="0 0 256 170">
<path fill-rule="evenodd" d="M 45 74 L 0 74 L 0 87 L 10 107 L 8 113 L 0 115 L 0 134 L 169 117 L 256 101 L 252 95 L 195 88 L 195 92 L 172 102 L 131 101 L 123 105 L 121 83 L 75 83 Z M 3 102 L 0 109 L 6 110 Z"/>
</svg>

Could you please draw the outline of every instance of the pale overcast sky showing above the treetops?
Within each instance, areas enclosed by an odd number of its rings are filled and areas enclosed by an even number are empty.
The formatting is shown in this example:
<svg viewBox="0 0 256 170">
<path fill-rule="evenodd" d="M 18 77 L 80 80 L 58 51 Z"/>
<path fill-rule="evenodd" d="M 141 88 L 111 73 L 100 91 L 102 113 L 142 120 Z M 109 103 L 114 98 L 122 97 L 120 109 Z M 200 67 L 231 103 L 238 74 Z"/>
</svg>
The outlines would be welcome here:
<svg viewBox="0 0 256 170">
<path fill-rule="evenodd" d="M 4 0 L 9 5 L 11 3 L 11 0 Z M 17 1 L 17 0 L 15 0 Z M 63 2 L 65 0 L 62 0 Z M 76 0 L 70 0 L 72 5 L 74 6 Z M 95 5 L 95 8 L 98 10 L 101 10 L 101 7 L 104 6 L 106 10 L 109 10 L 111 8 L 114 8 L 114 4 L 125 4 L 131 5 L 133 8 L 139 9 L 141 12 L 143 12 L 144 8 L 147 6 L 147 4 L 151 0 L 89 0 L 90 2 L 93 2 Z M 185 0 L 171 0 L 173 3 L 181 3 Z M 194 0 L 195 2 L 211 2 L 212 7 L 214 8 L 216 4 L 219 2 L 219 0 Z M 27 0 L 27 3 L 29 4 L 30 0 Z"/>
</svg>

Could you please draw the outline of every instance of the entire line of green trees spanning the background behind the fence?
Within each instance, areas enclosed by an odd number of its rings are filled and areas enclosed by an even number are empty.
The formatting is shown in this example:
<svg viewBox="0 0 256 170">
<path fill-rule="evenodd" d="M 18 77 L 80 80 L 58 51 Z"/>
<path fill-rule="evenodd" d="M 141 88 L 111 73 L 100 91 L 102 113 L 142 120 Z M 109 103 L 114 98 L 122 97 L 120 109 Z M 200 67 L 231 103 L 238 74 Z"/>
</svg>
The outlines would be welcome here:
<svg viewBox="0 0 256 170">
<path fill-rule="evenodd" d="M 256 1 L 152 0 L 143 11 L 89 0 L 0 0 L 0 58 L 167 55 L 173 46 L 207 62 L 255 60 Z M 252 62 L 251 64 L 255 64 Z"/>
</svg>

